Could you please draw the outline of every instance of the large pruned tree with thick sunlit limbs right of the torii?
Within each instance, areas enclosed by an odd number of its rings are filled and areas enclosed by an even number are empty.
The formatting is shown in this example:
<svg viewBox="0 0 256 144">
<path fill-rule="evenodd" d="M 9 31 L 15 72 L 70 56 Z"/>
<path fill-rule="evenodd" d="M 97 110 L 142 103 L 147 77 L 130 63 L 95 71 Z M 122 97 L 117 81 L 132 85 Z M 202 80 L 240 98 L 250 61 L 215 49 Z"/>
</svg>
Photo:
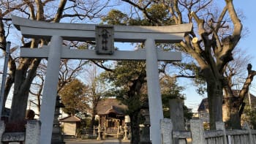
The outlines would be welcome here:
<svg viewBox="0 0 256 144">
<path fill-rule="evenodd" d="M 199 18 L 196 12 L 190 12 L 189 15 L 195 19 L 197 24 L 197 34 L 199 34 L 200 40 L 197 40 L 192 31 L 191 35 L 185 36 L 185 41 L 181 42 L 184 50 L 197 61 L 201 69 L 200 75 L 206 80 L 211 129 L 215 129 L 216 121 L 222 121 L 222 90 L 227 86 L 223 72 L 228 62 L 233 60 L 232 51 L 241 37 L 242 29 L 241 21 L 234 10 L 233 1 L 225 1 L 225 3 L 226 6 L 219 18 L 212 18 L 207 23 L 204 18 Z M 222 20 L 226 13 L 230 16 L 234 28 L 232 34 L 221 39 L 218 31 L 223 29 Z"/>
</svg>

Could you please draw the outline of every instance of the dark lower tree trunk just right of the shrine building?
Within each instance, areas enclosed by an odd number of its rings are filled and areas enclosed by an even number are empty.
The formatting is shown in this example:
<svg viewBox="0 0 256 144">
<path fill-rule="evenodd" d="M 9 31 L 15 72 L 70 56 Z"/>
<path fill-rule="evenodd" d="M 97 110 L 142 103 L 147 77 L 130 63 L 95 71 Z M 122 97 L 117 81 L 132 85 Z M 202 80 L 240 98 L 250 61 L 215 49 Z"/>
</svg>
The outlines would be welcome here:
<svg viewBox="0 0 256 144">
<path fill-rule="evenodd" d="M 140 143 L 140 126 L 139 126 L 139 111 L 135 111 L 129 117 L 131 118 L 131 133 L 132 139 L 131 144 L 138 144 Z"/>
</svg>

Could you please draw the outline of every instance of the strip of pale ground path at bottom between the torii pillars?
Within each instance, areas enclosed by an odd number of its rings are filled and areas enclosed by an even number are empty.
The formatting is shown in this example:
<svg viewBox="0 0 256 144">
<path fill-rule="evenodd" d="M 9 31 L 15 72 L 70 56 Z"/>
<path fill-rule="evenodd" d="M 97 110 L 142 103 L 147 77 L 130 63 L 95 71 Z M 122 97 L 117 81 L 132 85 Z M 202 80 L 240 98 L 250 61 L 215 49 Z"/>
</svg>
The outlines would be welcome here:
<svg viewBox="0 0 256 144">
<path fill-rule="evenodd" d="M 65 140 L 66 144 L 129 144 L 129 140 Z"/>
</svg>

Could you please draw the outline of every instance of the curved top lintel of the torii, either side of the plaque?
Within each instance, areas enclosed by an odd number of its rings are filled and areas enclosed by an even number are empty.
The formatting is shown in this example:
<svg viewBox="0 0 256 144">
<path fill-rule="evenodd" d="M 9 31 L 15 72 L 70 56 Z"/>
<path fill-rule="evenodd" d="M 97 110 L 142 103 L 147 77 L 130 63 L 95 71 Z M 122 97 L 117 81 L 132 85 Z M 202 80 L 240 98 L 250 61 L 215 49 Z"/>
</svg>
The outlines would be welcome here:
<svg viewBox="0 0 256 144">
<path fill-rule="evenodd" d="M 12 23 L 22 31 L 23 37 L 50 39 L 59 35 L 64 40 L 84 42 L 95 39 L 94 24 L 83 23 L 48 23 L 29 20 L 12 15 Z M 184 38 L 184 33 L 191 31 L 192 23 L 173 26 L 113 26 L 115 42 L 145 42 L 154 39 L 155 42 L 176 43 Z"/>
</svg>

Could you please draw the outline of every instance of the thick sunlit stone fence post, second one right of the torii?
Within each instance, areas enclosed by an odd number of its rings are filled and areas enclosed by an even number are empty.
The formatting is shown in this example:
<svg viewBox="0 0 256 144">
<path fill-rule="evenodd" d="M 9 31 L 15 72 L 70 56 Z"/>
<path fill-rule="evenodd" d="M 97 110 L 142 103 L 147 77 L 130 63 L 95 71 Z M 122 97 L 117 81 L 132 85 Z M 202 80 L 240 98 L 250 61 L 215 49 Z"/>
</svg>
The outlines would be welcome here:
<svg viewBox="0 0 256 144">
<path fill-rule="evenodd" d="M 203 121 L 201 119 L 190 120 L 192 143 L 205 144 Z"/>
</svg>

